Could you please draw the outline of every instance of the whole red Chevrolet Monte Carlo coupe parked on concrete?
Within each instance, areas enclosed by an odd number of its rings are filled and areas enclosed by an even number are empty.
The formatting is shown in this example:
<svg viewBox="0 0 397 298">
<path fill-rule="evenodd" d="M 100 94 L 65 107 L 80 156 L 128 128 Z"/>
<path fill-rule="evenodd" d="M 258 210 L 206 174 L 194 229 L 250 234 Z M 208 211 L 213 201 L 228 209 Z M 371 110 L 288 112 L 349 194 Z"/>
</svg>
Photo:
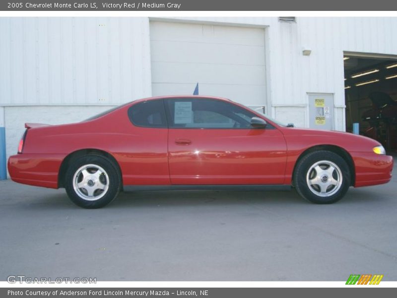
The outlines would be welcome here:
<svg viewBox="0 0 397 298">
<path fill-rule="evenodd" d="M 284 126 L 228 99 L 162 96 L 136 100 L 85 121 L 25 124 L 8 160 L 15 182 L 64 187 L 84 208 L 125 189 L 295 187 L 318 204 L 350 186 L 387 183 L 393 158 L 375 140 Z"/>
</svg>

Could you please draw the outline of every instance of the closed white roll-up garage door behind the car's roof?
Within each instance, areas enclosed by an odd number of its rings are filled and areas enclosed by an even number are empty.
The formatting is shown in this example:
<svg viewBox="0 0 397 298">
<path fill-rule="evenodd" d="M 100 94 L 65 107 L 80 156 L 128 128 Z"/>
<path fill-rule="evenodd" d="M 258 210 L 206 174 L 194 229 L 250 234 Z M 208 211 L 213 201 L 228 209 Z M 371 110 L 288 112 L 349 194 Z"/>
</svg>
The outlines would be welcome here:
<svg viewBox="0 0 397 298">
<path fill-rule="evenodd" d="M 192 23 L 150 23 L 152 94 L 227 97 L 265 105 L 265 32 Z"/>
</svg>

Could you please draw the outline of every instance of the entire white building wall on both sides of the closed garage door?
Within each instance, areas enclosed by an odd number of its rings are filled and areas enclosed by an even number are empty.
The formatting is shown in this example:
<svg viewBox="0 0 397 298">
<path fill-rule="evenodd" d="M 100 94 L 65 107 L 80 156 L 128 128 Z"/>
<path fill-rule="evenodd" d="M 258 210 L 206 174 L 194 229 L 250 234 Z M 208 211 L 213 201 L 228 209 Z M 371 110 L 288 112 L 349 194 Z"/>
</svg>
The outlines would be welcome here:
<svg viewBox="0 0 397 298">
<path fill-rule="evenodd" d="M 344 130 L 344 51 L 397 55 L 395 17 L 297 17 L 296 23 L 276 17 L 150 20 L 265 28 L 267 113 L 301 127 L 309 125 L 308 93 L 331 93 L 334 128 Z M 16 151 L 24 122 L 79 121 L 150 96 L 149 30 L 147 17 L 0 18 L 7 155 Z M 303 56 L 303 49 L 311 55 Z"/>
</svg>

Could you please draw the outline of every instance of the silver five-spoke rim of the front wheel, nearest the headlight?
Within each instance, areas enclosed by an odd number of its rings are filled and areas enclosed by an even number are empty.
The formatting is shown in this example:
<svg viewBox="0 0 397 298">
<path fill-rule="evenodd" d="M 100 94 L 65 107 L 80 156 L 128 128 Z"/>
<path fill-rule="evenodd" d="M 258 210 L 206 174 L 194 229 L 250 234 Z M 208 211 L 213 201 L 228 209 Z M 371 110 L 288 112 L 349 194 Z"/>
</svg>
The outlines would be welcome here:
<svg viewBox="0 0 397 298">
<path fill-rule="evenodd" d="M 330 197 L 342 186 L 343 176 L 340 168 L 329 160 L 314 163 L 306 174 L 310 191 L 319 197 Z"/>
</svg>

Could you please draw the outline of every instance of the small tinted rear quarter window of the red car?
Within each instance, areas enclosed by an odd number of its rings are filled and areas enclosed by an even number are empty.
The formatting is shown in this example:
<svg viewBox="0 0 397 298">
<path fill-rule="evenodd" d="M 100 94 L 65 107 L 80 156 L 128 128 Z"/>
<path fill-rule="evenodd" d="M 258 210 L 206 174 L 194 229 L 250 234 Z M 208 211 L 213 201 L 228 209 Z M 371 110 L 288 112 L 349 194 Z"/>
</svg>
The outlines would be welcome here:
<svg viewBox="0 0 397 298">
<path fill-rule="evenodd" d="M 128 117 L 135 126 L 168 127 L 162 99 L 148 100 L 132 105 L 128 109 Z"/>
</svg>

